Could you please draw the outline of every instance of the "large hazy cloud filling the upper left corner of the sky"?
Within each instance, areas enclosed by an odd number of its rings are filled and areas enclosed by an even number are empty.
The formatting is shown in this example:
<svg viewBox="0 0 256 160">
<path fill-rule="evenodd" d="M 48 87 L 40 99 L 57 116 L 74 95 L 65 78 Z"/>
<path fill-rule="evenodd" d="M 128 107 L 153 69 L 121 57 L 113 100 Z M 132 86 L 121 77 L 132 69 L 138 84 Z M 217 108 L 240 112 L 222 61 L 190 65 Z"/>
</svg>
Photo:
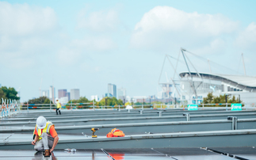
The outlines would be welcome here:
<svg viewBox="0 0 256 160">
<path fill-rule="evenodd" d="M 58 28 L 49 7 L 0 2 L 0 55 L 8 67 L 31 67 L 54 45 Z M 12 62 L 12 63 L 10 63 Z M 15 63 L 13 63 L 15 62 Z"/>
</svg>

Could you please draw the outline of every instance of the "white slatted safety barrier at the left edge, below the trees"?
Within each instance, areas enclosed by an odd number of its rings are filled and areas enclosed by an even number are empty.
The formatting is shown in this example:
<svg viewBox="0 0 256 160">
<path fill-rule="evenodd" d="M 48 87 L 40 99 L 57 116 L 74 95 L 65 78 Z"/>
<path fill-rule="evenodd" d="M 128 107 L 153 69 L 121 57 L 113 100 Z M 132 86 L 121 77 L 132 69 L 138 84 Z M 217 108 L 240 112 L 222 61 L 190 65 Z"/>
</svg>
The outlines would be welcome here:
<svg viewBox="0 0 256 160">
<path fill-rule="evenodd" d="M 20 111 L 20 101 L 3 99 L 2 105 L 0 104 L 1 115 L 0 118 L 16 115 Z"/>
</svg>

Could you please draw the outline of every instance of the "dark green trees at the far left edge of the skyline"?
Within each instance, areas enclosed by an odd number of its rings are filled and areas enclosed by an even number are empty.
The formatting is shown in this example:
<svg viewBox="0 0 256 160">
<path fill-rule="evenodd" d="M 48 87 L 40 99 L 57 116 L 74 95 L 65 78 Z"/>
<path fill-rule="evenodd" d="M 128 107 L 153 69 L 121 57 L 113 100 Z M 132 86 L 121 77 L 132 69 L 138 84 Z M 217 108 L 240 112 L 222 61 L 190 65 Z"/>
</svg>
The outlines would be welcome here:
<svg viewBox="0 0 256 160">
<path fill-rule="evenodd" d="M 20 97 L 17 97 L 17 91 L 13 87 L 7 88 L 6 86 L 0 88 L 0 101 L 2 101 L 2 98 L 7 100 L 20 100 Z"/>
</svg>

